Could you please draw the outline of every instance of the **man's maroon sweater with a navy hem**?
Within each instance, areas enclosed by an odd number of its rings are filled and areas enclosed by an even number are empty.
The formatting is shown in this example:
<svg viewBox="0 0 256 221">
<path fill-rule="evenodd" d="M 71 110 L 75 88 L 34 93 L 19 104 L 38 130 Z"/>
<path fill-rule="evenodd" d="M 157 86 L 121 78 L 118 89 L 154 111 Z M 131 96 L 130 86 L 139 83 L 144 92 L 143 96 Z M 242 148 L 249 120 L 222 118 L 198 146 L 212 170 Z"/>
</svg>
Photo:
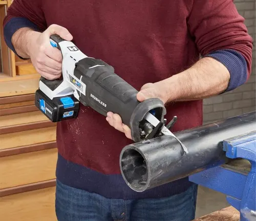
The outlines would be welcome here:
<svg viewBox="0 0 256 221">
<path fill-rule="evenodd" d="M 66 27 L 84 54 L 112 65 L 137 90 L 189 68 L 200 54 L 218 50 L 239 52 L 247 67 L 243 79 L 251 69 L 252 39 L 232 0 L 14 0 L 4 21 L 6 41 L 14 21 L 16 29 Z M 166 108 L 167 120 L 178 116 L 173 131 L 202 124 L 201 100 L 170 103 Z M 122 198 L 172 195 L 189 186 L 183 179 L 146 193 L 131 192 L 119 170 L 120 151 L 131 142 L 104 116 L 81 105 L 76 119 L 57 124 L 57 178 L 73 187 Z"/>
</svg>

